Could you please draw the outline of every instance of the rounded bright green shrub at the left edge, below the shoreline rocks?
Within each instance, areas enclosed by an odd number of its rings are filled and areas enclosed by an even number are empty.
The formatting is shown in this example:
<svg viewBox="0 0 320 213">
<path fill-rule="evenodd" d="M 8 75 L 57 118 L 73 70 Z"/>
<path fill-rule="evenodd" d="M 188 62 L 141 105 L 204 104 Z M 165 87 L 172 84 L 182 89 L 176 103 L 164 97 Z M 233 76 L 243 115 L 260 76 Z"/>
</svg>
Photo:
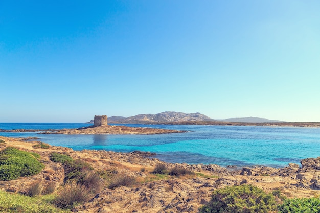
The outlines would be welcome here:
<svg viewBox="0 0 320 213">
<path fill-rule="evenodd" d="M 0 152 L 0 180 L 15 180 L 38 174 L 44 165 L 37 158 L 39 154 L 8 147 Z"/>
</svg>

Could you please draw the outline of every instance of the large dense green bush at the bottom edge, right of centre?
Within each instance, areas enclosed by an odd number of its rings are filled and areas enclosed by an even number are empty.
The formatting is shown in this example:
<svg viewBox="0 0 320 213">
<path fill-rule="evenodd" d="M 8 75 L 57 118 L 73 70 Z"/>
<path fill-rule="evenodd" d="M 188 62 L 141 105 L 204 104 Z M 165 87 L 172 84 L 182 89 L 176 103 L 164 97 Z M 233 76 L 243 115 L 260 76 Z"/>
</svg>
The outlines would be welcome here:
<svg viewBox="0 0 320 213">
<path fill-rule="evenodd" d="M 214 191 L 210 202 L 199 210 L 202 213 L 266 213 L 276 208 L 275 197 L 271 193 L 266 194 L 253 185 L 240 185 Z"/>
</svg>

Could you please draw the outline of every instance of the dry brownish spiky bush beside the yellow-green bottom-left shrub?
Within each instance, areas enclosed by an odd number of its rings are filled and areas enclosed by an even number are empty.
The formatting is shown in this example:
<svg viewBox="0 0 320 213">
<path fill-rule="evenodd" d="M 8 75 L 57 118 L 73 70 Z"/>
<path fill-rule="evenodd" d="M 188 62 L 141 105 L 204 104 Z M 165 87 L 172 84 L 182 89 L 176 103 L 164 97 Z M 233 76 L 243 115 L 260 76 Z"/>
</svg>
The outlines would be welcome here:
<svg viewBox="0 0 320 213">
<path fill-rule="evenodd" d="M 60 191 L 55 205 L 62 209 L 70 209 L 78 204 L 87 202 L 92 197 L 84 185 L 65 185 Z"/>
</svg>

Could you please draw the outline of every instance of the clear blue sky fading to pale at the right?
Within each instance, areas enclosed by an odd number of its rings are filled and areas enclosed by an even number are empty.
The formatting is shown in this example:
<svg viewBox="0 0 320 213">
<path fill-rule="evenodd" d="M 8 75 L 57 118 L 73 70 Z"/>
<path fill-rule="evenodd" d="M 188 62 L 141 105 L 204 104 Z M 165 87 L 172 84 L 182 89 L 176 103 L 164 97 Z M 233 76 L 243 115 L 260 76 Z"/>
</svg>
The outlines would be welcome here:
<svg viewBox="0 0 320 213">
<path fill-rule="evenodd" d="M 320 122 L 320 1 L 0 1 L 0 122 Z"/>
</svg>

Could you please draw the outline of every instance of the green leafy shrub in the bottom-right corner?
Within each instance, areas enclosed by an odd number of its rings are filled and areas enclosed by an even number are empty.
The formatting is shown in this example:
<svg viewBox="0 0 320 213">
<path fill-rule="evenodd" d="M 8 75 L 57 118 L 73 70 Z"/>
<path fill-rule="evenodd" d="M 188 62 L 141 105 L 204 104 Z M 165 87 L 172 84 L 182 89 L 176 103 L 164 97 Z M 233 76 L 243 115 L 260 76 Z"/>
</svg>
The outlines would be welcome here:
<svg viewBox="0 0 320 213">
<path fill-rule="evenodd" d="M 319 213 L 319 198 L 293 198 L 285 199 L 282 205 L 279 205 L 280 213 Z"/>
</svg>

